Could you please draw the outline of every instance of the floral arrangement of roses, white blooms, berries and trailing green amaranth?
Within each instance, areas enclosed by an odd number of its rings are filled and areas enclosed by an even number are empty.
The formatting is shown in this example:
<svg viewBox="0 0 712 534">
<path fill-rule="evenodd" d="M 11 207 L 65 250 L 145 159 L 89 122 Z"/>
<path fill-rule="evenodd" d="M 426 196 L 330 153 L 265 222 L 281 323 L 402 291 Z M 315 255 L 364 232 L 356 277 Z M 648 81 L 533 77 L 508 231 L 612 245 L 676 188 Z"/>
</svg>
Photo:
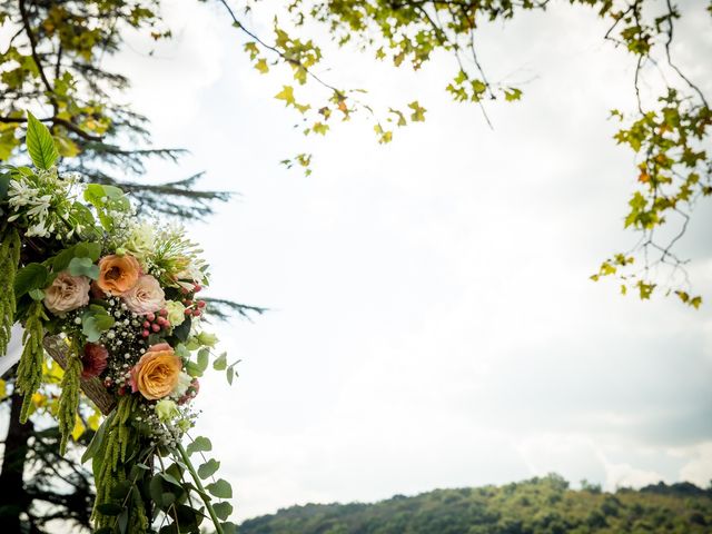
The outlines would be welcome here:
<svg viewBox="0 0 712 534">
<path fill-rule="evenodd" d="M 51 338 L 66 356 L 61 454 L 80 389 L 99 387 L 109 399 L 82 457 L 97 486 L 96 532 L 200 532 L 204 520 L 220 534 L 235 531 L 226 521 L 230 485 L 215 478 L 219 463 L 205 457 L 210 442 L 182 445 L 210 359 L 228 382 L 234 377 L 235 364 L 214 354 L 217 338 L 202 329 L 201 250 L 181 227 L 137 217 L 120 189 L 61 176 L 52 136 L 30 113 L 27 149 L 34 168 L 0 167 L 0 355 L 21 323 L 22 421 Z"/>
</svg>

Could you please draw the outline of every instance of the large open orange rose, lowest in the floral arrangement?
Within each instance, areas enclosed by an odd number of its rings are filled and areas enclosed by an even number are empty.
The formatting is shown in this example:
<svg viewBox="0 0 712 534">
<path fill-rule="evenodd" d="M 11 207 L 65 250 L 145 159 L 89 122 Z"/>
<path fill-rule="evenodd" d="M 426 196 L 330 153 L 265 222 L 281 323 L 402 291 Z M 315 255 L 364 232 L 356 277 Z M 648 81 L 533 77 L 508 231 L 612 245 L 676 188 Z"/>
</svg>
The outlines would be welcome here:
<svg viewBox="0 0 712 534">
<path fill-rule="evenodd" d="M 154 345 L 131 369 L 131 390 L 149 400 L 164 398 L 178 384 L 181 368 L 182 362 L 170 345 Z"/>
</svg>

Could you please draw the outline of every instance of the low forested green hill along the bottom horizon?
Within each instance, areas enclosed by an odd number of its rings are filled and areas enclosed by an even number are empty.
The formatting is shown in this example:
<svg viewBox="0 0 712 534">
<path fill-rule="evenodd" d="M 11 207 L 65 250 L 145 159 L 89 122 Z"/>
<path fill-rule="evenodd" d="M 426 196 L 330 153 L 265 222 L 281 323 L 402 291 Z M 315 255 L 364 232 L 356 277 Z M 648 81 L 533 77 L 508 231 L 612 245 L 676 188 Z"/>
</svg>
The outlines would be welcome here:
<svg viewBox="0 0 712 534">
<path fill-rule="evenodd" d="M 374 504 L 307 504 L 243 523 L 240 534 L 711 533 L 712 491 L 689 483 L 602 493 L 556 475 L 397 495 Z"/>
</svg>

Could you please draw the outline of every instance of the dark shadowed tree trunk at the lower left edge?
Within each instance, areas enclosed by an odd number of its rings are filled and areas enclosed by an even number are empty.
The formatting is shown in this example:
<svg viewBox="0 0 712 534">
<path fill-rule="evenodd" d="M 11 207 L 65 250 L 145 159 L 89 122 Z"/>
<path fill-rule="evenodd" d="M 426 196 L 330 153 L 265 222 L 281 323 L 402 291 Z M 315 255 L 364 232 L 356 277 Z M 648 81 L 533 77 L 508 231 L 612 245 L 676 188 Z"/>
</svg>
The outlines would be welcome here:
<svg viewBox="0 0 712 534">
<path fill-rule="evenodd" d="M 4 441 L 2 471 L 0 471 L 0 525 L 2 532 L 22 532 L 20 514 L 30 505 L 24 492 L 22 475 L 28 456 L 28 441 L 32 435 L 32 423 L 20 424 L 22 397 L 13 394 L 10 399 L 10 423 Z"/>
</svg>

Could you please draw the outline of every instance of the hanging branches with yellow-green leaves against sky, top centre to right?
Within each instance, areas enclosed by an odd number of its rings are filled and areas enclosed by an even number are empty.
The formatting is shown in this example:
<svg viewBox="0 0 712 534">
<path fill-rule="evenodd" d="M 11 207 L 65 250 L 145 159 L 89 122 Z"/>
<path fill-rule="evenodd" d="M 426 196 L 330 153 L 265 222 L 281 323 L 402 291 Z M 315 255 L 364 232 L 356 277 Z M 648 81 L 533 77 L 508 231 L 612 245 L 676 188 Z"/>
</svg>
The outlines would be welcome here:
<svg viewBox="0 0 712 534">
<path fill-rule="evenodd" d="M 246 36 L 245 51 L 260 73 L 277 67 L 291 73 L 296 86 L 283 86 L 275 98 L 300 116 L 305 135 L 325 135 L 337 117 L 349 120 L 359 112 L 370 118 L 378 142 L 384 144 L 390 142 L 395 129 L 425 120 L 425 108 L 413 101 L 405 108 L 394 105 L 377 110 L 367 102 L 365 90 L 326 82 L 315 73 L 326 62 L 324 43 L 301 33 L 313 32 L 315 24 L 324 27 L 336 47 L 356 48 L 395 68 L 418 70 L 431 61 L 449 58 L 453 73 L 442 80 L 444 90 L 456 102 L 478 106 L 490 123 L 486 105 L 517 101 L 524 92 L 516 81 L 487 76 L 482 58 L 486 50 L 478 41 L 482 28 L 507 23 L 526 11 L 544 10 L 548 1 L 291 0 L 286 10 L 259 0 L 245 2 L 244 18 L 255 10 L 274 13 L 271 39 L 247 28 L 226 0 L 218 3 Z M 592 279 L 617 277 L 623 294 L 636 288 L 639 296 L 647 299 L 662 289 L 698 308 L 702 297 L 690 293 L 684 269 L 688 260 L 676 255 L 675 245 L 686 230 L 695 204 L 712 195 L 712 111 L 703 92 L 671 56 L 681 10 L 671 1 L 663 6 L 652 0 L 571 3 L 590 8 L 594 17 L 603 19 L 609 29 L 602 37 L 624 49 L 635 62 L 632 91 L 637 107 L 625 112 L 613 110 L 613 116 L 622 121 L 615 140 L 629 146 L 636 157 L 636 186 L 625 227 L 636 231 L 640 240 L 631 250 L 606 259 Z M 685 10 L 692 17 L 708 16 L 702 6 L 688 4 Z M 307 83 L 322 88 L 323 96 L 306 101 L 301 96 L 306 91 L 298 91 L 298 87 Z M 643 90 L 646 86 L 662 89 L 647 96 Z M 305 168 L 308 174 L 312 155 L 303 152 L 283 162 Z"/>
</svg>

